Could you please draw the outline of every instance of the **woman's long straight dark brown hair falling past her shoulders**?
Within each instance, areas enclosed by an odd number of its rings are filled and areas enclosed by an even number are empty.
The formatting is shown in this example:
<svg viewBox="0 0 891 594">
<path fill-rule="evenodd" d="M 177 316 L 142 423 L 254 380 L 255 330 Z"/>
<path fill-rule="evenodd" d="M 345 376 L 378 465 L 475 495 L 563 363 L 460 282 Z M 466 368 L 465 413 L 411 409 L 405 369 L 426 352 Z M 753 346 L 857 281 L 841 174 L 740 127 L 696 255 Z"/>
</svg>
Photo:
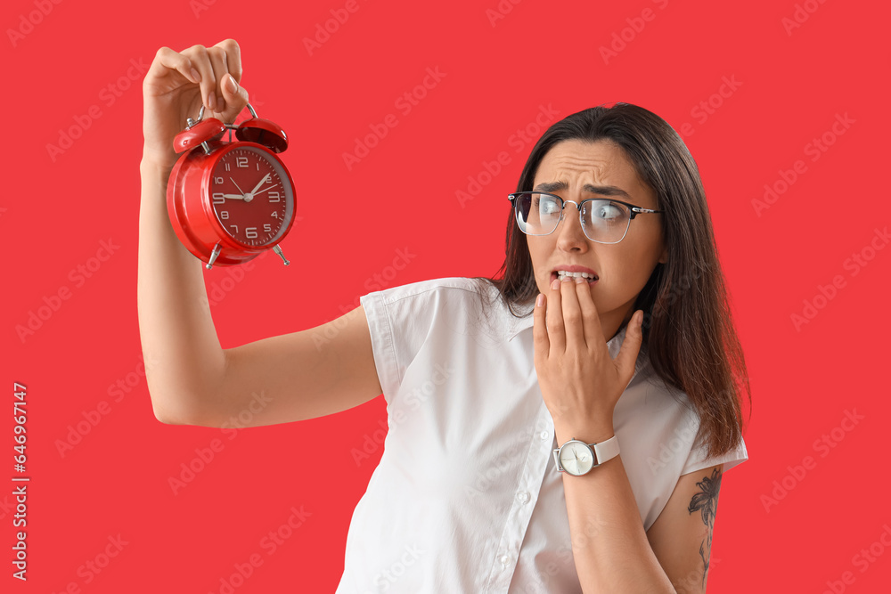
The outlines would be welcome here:
<svg viewBox="0 0 891 594">
<path fill-rule="evenodd" d="M 617 143 L 655 191 L 656 207 L 665 211 L 659 218 L 668 262 L 656 265 L 634 302 L 633 311 L 644 313 L 642 353 L 669 393 L 687 395 L 699 415 L 697 443 L 707 443 L 707 455 L 729 452 L 742 435 L 741 395 L 751 403 L 751 390 L 696 162 L 664 119 L 616 103 L 579 111 L 548 128 L 529 154 L 516 191 L 532 190 L 544 155 L 567 140 Z M 511 313 L 522 316 L 515 306 L 531 305 L 538 287 L 512 207 L 505 256 L 496 278 L 476 279 L 494 284 Z"/>
</svg>

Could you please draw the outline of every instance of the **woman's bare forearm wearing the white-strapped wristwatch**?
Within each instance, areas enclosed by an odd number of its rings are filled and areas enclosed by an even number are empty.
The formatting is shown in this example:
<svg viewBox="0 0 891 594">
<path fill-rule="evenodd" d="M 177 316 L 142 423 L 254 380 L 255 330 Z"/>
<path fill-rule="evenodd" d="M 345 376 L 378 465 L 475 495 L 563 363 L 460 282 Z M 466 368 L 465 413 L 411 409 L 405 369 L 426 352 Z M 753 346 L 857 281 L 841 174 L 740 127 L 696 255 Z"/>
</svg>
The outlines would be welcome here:
<svg viewBox="0 0 891 594">
<path fill-rule="evenodd" d="M 611 427 L 588 435 L 557 430 L 560 444 L 574 437 L 599 443 L 612 435 Z M 585 594 L 674 593 L 643 530 L 621 454 L 586 475 L 564 473 L 563 491 L 572 554 Z"/>
</svg>

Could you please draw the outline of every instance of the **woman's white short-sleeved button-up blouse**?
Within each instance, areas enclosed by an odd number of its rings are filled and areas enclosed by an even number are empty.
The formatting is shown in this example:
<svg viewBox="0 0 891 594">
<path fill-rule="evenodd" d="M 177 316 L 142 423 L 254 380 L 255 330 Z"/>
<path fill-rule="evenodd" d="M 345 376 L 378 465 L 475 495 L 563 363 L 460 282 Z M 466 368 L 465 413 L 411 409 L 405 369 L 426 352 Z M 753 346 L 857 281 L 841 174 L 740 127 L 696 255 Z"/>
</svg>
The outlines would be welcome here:
<svg viewBox="0 0 891 594">
<path fill-rule="evenodd" d="M 490 283 L 466 278 L 360 301 L 388 434 L 349 525 L 337 592 L 581 592 L 532 313 L 515 318 Z M 612 356 L 624 337 L 607 343 Z M 712 459 L 693 448 L 698 417 L 656 379 L 642 352 L 613 417 L 644 529 L 680 476 L 748 460 L 745 443 Z"/>
</svg>

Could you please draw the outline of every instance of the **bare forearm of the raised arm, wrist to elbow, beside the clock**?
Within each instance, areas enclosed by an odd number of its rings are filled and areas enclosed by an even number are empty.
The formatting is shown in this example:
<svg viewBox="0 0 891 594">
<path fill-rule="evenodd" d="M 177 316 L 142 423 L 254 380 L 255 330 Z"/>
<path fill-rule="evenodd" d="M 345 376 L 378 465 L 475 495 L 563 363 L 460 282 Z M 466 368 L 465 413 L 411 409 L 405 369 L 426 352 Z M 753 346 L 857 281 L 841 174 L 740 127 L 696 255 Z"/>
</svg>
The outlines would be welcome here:
<svg viewBox="0 0 891 594">
<path fill-rule="evenodd" d="M 146 381 L 159 419 L 201 424 L 200 402 L 221 377 L 225 356 L 202 264 L 176 237 L 167 211 L 169 170 L 143 159 L 136 298 Z"/>
</svg>

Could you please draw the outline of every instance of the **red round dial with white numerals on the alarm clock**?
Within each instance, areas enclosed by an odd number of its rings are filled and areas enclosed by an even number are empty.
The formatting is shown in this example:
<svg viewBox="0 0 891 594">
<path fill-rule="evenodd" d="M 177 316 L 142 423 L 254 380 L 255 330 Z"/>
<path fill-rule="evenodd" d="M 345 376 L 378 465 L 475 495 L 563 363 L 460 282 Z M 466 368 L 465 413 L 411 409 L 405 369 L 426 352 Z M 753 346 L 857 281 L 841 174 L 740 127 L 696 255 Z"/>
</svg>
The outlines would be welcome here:
<svg viewBox="0 0 891 594">
<path fill-rule="evenodd" d="M 277 159 L 251 146 L 226 151 L 210 178 L 217 221 L 233 240 L 258 248 L 279 240 L 294 212 L 294 191 Z"/>
</svg>

